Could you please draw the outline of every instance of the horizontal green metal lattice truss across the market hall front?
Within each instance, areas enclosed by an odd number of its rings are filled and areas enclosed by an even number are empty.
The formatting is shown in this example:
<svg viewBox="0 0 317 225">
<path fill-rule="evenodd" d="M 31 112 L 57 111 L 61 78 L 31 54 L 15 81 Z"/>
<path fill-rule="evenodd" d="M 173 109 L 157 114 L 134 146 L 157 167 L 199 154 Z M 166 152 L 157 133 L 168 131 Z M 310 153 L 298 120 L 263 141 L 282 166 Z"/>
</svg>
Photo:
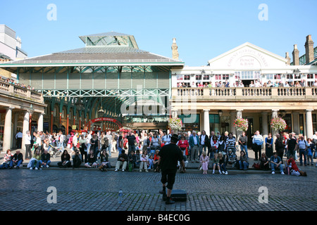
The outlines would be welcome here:
<svg viewBox="0 0 317 225">
<path fill-rule="evenodd" d="M 169 96 L 169 89 L 41 90 L 44 97 Z"/>
</svg>

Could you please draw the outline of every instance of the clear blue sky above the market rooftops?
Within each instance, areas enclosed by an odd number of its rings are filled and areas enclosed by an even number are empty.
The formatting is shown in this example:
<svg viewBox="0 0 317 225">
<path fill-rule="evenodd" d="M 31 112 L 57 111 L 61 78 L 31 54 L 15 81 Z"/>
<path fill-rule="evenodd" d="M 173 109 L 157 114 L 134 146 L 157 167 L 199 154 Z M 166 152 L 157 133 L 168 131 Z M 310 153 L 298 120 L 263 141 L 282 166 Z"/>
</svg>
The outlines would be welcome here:
<svg viewBox="0 0 317 225">
<path fill-rule="evenodd" d="M 56 21 L 46 18 L 51 3 Z M 268 20 L 259 20 L 260 4 L 268 6 Z M 175 37 L 185 65 L 200 66 L 246 41 L 282 57 L 297 44 L 302 56 L 308 34 L 317 46 L 316 8 L 316 0 L 0 0 L 0 24 L 15 30 L 29 57 L 81 48 L 80 35 L 116 31 L 170 58 Z"/>
</svg>

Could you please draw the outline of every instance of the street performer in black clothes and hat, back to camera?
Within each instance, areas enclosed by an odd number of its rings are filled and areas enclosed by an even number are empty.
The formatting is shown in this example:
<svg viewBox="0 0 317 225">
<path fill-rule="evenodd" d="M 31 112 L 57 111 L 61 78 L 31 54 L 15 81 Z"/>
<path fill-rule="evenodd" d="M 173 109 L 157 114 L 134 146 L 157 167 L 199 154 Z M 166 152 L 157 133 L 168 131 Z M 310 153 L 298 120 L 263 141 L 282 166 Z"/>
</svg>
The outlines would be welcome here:
<svg viewBox="0 0 317 225">
<path fill-rule="evenodd" d="M 170 138 L 170 143 L 163 146 L 159 152 L 159 167 L 161 168 L 161 182 L 163 184 L 163 190 L 160 193 L 167 196 L 166 204 L 175 203 L 171 198 L 170 194 L 172 193 L 173 184 L 175 183 L 175 175 L 178 169 L 178 161 L 185 171 L 185 162 L 182 155 L 182 151 L 176 143 L 178 142 L 178 135 L 173 134 Z M 167 186 L 166 186 L 167 182 Z M 167 194 L 166 194 L 166 187 Z"/>
</svg>

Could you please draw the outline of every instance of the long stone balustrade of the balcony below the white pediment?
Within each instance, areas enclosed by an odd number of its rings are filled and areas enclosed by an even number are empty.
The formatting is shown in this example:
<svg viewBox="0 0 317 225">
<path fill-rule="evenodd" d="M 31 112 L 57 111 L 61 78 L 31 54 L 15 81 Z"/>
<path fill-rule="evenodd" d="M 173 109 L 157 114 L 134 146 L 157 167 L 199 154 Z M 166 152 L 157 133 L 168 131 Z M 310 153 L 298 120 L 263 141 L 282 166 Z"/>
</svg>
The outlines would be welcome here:
<svg viewBox="0 0 317 225">
<path fill-rule="evenodd" d="M 172 100 L 197 101 L 317 101 L 317 87 L 173 88 Z"/>
</svg>

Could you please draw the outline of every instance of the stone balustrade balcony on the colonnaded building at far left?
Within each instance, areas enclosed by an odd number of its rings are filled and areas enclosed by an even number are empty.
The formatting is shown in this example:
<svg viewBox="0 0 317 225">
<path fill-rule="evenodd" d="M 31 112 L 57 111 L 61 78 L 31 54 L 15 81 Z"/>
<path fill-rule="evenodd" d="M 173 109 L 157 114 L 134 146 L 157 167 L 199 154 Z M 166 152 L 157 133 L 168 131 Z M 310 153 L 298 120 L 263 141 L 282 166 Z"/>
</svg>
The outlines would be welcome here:
<svg viewBox="0 0 317 225">
<path fill-rule="evenodd" d="M 37 103 L 44 103 L 44 98 L 41 93 L 8 82 L 0 81 L 0 94 L 23 98 L 24 100 L 35 101 Z"/>
</svg>

